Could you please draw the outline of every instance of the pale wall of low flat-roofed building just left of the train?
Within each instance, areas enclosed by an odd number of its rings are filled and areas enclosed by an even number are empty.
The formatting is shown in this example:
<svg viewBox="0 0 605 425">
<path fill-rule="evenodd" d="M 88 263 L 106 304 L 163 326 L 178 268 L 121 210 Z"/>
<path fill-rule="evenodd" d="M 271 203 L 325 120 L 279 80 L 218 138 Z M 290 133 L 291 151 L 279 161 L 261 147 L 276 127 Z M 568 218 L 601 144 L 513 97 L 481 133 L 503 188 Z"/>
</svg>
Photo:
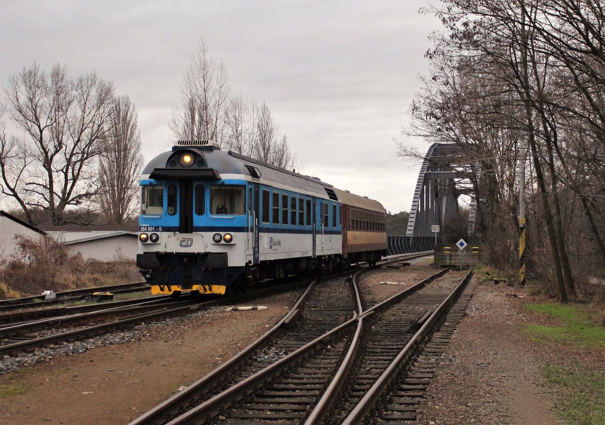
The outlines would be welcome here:
<svg viewBox="0 0 605 425">
<path fill-rule="evenodd" d="M 135 261 L 139 252 L 137 236 L 128 234 L 70 243 L 65 246 L 74 253 L 80 252 L 85 260 L 100 262 Z"/>
</svg>

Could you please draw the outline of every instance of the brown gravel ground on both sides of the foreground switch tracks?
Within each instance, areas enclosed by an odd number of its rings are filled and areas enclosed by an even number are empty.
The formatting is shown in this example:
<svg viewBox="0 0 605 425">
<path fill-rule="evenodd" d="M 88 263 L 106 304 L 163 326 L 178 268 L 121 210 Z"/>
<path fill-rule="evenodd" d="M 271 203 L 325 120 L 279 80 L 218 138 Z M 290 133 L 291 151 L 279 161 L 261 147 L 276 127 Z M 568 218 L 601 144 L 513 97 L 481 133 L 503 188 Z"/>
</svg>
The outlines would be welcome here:
<svg viewBox="0 0 605 425">
<path fill-rule="evenodd" d="M 424 263 L 373 271 L 363 278 L 364 293 L 381 301 L 437 271 Z M 540 386 L 542 353 L 520 334 L 519 324 L 528 318 L 522 299 L 506 296 L 511 291 L 477 285 L 468 315 L 440 359 L 418 423 L 557 423 Z M 267 310 L 217 308 L 4 358 L 0 424 L 128 423 L 255 340 L 295 298 L 274 295 L 259 301 Z"/>
</svg>

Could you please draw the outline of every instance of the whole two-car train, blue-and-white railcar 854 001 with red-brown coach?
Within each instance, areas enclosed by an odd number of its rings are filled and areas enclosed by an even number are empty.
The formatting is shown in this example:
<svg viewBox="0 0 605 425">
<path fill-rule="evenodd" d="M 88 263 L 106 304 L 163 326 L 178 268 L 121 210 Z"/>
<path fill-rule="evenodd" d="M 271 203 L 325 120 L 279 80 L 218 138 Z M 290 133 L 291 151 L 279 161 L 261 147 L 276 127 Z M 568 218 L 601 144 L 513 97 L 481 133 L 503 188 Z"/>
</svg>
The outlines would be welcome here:
<svg viewBox="0 0 605 425">
<path fill-rule="evenodd" d="M 137 266 L 152 294 L 231 295 L 291 274 L 375 265 L 376 200 L 232 151 L 177 140 L 143 168 Z"/>
</svg>

